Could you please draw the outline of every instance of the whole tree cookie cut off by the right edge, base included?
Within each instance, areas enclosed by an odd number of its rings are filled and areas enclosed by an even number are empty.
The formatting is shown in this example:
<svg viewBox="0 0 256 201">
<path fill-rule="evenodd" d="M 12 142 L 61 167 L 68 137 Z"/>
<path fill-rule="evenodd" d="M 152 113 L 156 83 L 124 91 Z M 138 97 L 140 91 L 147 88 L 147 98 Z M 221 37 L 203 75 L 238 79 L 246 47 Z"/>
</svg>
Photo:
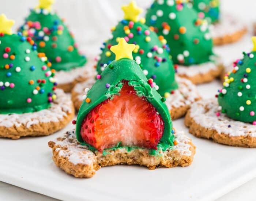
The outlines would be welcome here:
<svg viewBox="0 0 256 201">
<path fill-rule="evenodd" d="M 194 103 L 185 117 L 189 132 L 222 144 L 256 147 L 255 63 L 256 37 L 252 52 L 244 53 L 219 90 L 218 102 Z"/>
</svg>

